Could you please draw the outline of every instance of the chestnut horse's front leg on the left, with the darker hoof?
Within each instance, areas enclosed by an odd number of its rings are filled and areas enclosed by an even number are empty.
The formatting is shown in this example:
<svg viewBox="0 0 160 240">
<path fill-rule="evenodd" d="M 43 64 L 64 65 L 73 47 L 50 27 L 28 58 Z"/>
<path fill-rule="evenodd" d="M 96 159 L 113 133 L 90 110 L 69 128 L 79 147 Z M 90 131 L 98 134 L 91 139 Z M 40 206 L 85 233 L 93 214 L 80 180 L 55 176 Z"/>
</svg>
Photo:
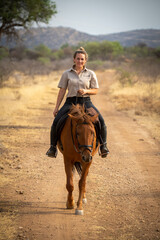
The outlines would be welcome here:
<svg viewBox="0 0 160 240">
<path fill-rule="evenodd" d="M 74 208 L 74 200 L 73 200 L 73 194 L 72 194 L 72 192 L 74 190 L 72 169 L 73 169 L 72 164 L 65 161 L 66 188 L 67 188 L 67 191 L 68 191 L 68 198 L 67 198 L 66 207 L 68 209 L 73 209 Z"/>
</svg>

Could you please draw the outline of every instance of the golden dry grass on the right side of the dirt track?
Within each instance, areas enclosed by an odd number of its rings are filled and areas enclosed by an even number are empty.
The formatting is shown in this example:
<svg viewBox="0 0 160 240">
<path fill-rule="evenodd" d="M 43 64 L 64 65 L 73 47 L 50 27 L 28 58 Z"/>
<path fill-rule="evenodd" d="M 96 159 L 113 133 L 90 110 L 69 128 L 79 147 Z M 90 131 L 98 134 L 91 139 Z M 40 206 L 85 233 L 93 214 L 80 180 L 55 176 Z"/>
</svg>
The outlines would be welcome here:
<svg viewBox="0 0 160 240">
<path fill-rule="evenodd" d="M 122 85 L 119 76 L 110 87 L 113 103 L 118 111 L 125 111 L 135 121 L 150 130 L 160 141 L 160 78 L 134 74 L 133 84 Z"/>
</svg>

